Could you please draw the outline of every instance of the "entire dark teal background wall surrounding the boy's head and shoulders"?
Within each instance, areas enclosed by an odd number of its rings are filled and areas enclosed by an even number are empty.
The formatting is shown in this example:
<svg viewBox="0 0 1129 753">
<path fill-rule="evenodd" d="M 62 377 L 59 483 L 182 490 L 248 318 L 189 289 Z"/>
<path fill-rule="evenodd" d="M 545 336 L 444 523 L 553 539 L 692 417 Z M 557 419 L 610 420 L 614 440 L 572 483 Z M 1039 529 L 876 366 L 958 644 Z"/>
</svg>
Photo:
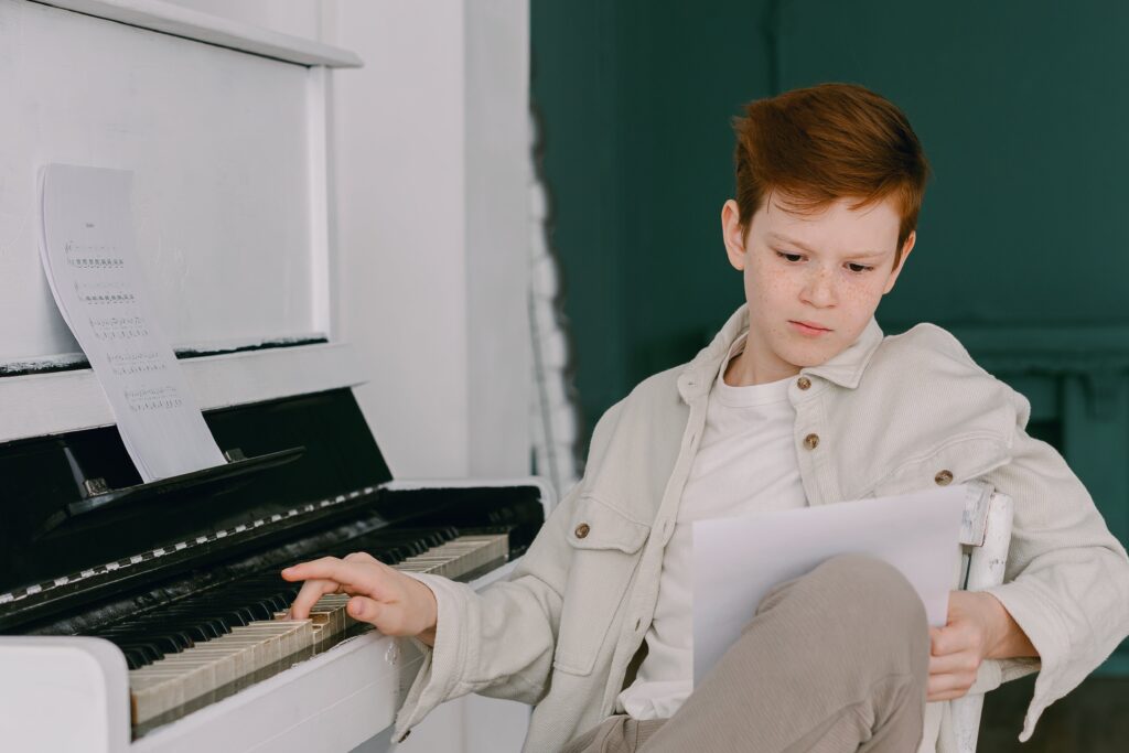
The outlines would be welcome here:
<svg viewBox="0 0 1129 753">
<path fill-rule="evenodd" d="M 935 172 L 879 323 L 956 332 L 1031 399 L 1033 434 L 1129 541 L 1126 40 L 1129 5 L 1093 0 L 533 0 L 532 94 L 587 431 L 742 301 L 719 238 L 730 117 L 854 81 L 905 111 Z"/>
</svg>

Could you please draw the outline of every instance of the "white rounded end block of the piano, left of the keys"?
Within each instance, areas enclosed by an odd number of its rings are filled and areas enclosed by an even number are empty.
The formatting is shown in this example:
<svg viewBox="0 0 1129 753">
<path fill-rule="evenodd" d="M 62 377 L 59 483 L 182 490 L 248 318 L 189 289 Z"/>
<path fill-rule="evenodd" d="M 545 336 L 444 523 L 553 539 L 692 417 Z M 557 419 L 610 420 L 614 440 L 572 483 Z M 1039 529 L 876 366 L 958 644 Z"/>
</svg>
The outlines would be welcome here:
<svg viewBox="0 0 1129 753">
<path fill-rule="evenodd" d="M 126 751 L 122 653 L 98 638 L 0 636 L 0 741 L 12 751 Z"/>
</svg>

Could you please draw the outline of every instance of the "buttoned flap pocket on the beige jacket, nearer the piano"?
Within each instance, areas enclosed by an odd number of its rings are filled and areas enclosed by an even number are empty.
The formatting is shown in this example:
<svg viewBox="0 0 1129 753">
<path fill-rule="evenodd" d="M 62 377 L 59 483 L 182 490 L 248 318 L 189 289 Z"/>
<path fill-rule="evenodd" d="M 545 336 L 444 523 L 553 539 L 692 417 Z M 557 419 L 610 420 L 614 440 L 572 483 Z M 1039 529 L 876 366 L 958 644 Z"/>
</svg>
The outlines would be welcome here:
<svg viewBox="0 0 1129 753">
<path fill-rule="evenodd" d="M 586 675 L 595 666 L 639 563 L 650 526 L 592 496 L 581 497 L 569 525 L 572 548 L 553 666 Z"/>
</svg>

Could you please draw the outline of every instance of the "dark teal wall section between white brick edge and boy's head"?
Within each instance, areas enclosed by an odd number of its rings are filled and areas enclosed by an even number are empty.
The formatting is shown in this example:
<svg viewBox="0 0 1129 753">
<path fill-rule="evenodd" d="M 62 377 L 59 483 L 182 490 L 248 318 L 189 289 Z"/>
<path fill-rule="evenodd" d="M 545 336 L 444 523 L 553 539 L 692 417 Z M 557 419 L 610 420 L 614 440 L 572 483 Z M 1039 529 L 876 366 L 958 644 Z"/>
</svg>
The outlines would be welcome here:
<svg viewBox="0 0 1129 753">
<path fill-rule="evenodd" d="M 589 431 L 742 300 L 717 239 L 729 120 L 769 91 L 763 14 L 756 2 L 533 1 L 532 94 Z"/>
</svg>

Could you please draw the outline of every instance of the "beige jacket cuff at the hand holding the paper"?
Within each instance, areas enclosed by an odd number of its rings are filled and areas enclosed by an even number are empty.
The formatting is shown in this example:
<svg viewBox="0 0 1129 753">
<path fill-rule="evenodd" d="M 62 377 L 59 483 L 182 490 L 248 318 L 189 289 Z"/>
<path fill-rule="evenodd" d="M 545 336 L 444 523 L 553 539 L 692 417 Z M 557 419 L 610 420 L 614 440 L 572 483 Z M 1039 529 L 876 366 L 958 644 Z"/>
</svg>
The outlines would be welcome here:
<svg viewBox="0 0 1129 753">
<path fill-rule="evenodd" d="M 999 599 L 1039 651 L 1038 664 L 1032 659 L 1000 662 L 1003 682 L 1021 677 L 1030 673 L 1032 667 L 1040 669 L 1031 703 L 1023 719 L 1023 732 L 1019 733 L 1019 742 L 1025 743 L 1035 730 L 1035 723 L 1039 721 L 1043 710 L 1070 691 L 1070 688 L 1058 686 L 1070 648 L 1069 631 L 1061 615 L 1052 606 L 1051 596 L 1049 594 L 1040 596 L 1035 584 L 1016 580 L 986 588 L 984 592 Z"/>
</svg>

